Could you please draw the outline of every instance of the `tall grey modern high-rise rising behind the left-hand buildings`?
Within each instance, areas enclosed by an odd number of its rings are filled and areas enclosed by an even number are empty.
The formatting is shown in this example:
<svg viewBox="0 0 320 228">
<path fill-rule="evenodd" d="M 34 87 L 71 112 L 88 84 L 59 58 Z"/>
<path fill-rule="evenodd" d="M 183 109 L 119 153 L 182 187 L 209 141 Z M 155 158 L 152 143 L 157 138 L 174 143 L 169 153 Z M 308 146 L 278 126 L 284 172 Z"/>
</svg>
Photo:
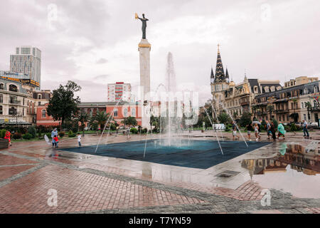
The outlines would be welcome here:
<svg viewBox="0 0 320 228">
<path fill-rule="evenodd" d="M 16 54 L 10 55 L 10 71 L 23 73 L 30 80 L 41 83 L 41 51 L 33 46 L 16 48 Z"/>
</svg>

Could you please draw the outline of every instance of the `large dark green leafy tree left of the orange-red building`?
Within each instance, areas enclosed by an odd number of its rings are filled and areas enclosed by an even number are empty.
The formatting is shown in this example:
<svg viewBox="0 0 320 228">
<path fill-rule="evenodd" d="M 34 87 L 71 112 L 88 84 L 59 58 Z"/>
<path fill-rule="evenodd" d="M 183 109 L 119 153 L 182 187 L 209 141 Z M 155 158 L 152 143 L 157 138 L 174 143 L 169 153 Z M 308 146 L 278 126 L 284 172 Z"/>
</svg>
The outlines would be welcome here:
<svg viewBox="0 0 320 228">
<path fill-rule="evenodd" d="M 58 89 L 53 90 L 53 96 L 49 100 L 47 108 L 48 115 L 53 120 L 61 120 L 61 125 L 66 119 L 72 118 L 77 113 L 80 98 L 75 98 L 75 92 L 81 90 L 81 87 L 73 81 L 68 81 L 65 86 L 60 85 Z"/>
</svg>

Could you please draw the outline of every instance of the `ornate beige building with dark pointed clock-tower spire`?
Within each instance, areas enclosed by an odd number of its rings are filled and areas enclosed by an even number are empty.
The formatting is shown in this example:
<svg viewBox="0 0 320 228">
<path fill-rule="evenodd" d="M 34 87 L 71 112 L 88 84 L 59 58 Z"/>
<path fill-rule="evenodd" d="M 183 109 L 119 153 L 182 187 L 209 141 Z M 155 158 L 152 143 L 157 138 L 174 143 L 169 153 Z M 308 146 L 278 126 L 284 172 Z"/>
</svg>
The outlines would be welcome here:
<svg viewBox="0 0 320 228">
<path fill-rule="evenodd" d="M 252 103 L 255 95 L 267 93 L 270 90 L 280 90 L 279 81 L 262 81 L 259 79 L 248 79 L 245 75 L 241 83 L 235 84 L 233 80 L 229 80 L 230 76 L 228 68 L 225 73 L 223 63 L 221 61 L 220 50 L 218 46 L 217 63 L 215 74 L 211 68 L 211 93 L 213 95 L 213 108 L 215 113 L 219 115 L 225 110 L 233 118 L 240 118 L 245 112 L 252 113 Z M 213 112 L 213 115 L 215 115 Z"/>
</svg>

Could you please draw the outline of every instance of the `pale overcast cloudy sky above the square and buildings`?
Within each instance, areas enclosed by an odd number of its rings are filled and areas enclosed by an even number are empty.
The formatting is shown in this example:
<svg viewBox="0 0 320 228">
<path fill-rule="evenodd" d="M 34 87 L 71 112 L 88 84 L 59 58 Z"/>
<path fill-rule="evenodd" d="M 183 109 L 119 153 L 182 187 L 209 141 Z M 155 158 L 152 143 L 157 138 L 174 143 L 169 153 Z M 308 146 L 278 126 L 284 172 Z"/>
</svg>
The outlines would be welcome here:
<svg viewBox="0 0 320 228">
<path fill-rule="evenodd" d="M 57 14 L 55 14 L 55 7 Z M 0 70 L 16 46 L 42 51 L 41 89 L 76 81 L 82 101 L 106 101 L 107 83 L 139 85 L 141 21 L 149 19 L 151 89 L 165 82 L 166 55 L 174 56 L 179 89 L 210 98 L 210 67 L 217 44 L 235 83 L 244 78 L 282 83 L 320 76 L 320 1 L 0 1 Z"/>
</svg>

